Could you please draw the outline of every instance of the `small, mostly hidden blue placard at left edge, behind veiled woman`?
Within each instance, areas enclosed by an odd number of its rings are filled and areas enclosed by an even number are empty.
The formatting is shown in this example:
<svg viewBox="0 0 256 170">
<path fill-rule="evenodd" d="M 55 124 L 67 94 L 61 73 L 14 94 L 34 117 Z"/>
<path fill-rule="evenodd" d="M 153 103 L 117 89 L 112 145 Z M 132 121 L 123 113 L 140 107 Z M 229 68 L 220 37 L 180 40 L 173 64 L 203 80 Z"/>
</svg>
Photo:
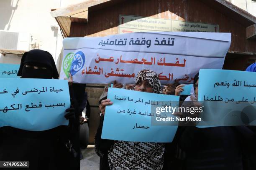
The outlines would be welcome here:
<svg viewBox="0 0 256 170">
<path fill-rule="evenodd" d="M 0 78 L 19 78 L 19 76 L 17 76 L 19 68 L 19 64 L 0 63 Z"/>
</svg>

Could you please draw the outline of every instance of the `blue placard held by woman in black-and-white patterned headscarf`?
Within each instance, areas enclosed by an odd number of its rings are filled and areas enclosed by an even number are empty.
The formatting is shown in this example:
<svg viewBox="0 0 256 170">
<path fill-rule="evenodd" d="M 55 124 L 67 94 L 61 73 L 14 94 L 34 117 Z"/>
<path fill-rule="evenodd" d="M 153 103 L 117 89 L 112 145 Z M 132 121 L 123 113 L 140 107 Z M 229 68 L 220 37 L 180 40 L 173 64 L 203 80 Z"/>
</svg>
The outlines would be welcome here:
<svg viewBox="0 0 256 170">
<path fill-rule="evenodd" d="M 113 105 L 106 107 L 101 138 L 133 142 L 172 142 L 177 125 L 152 125 L 151 121 L 156 118 L 156 114 L 152 112 L 151 105 L 161 103 L 152 102 L 153 100 L 179 101 L 179 96 L 109 88 L 108 99 Z"/>
</svg>

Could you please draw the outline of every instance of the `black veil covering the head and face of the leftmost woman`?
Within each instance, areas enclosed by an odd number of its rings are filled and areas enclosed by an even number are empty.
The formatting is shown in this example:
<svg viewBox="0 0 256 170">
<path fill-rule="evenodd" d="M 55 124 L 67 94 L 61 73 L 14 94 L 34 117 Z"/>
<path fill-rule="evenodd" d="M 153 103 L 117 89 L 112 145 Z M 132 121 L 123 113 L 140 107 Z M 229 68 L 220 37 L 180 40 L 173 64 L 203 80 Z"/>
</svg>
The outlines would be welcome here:
<svg viewBox="0 0 256 170">
<path fill-rule="evenodd" d="M 24 67 L 25 65 L 33 65 L 38 67 L 46 67 L 46 69 L 34 69 Z M 22 78 L 59 78 L 54 59 L 52 55 L 44 50 L 30 50 L 25 52 L 21 58 L 18 76 Z"/>
</svg>

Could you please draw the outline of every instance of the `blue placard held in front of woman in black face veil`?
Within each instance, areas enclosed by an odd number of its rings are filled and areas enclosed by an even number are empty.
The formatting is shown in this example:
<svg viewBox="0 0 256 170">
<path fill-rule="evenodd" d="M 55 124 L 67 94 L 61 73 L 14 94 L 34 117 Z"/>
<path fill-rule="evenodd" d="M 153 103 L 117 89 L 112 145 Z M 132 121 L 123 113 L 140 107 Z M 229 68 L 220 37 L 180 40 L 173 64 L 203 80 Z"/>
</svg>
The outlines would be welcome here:
<svg viewBox="0 0 256 170">
<path fill-rule="evenodd" d="M 67 80 L 0 79 L 0 127 L 42 131 L 68 125 Z"/>
</svg>

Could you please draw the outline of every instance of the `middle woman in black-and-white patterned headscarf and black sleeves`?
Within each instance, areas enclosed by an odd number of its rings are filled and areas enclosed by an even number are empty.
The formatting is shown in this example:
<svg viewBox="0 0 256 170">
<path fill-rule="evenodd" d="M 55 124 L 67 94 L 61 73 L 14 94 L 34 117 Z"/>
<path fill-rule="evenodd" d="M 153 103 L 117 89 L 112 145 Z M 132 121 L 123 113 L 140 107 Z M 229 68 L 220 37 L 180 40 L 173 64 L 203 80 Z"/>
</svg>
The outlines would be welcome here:
<svg viewBox="0 0 256 170">
<path fill-rule="evenodd" d="M 138 72 L 133 90 L 161 93 L 161 84 L 156 72 Z M 163 143 L 101 139 L 105 106 L 112 104 L 109 99 L 102 100 L 100 104 L 102 119 L 95 136 L 95 151 L 101 157 L 100 170 L 162 170 L 166 153 Z"/>
</svg>

